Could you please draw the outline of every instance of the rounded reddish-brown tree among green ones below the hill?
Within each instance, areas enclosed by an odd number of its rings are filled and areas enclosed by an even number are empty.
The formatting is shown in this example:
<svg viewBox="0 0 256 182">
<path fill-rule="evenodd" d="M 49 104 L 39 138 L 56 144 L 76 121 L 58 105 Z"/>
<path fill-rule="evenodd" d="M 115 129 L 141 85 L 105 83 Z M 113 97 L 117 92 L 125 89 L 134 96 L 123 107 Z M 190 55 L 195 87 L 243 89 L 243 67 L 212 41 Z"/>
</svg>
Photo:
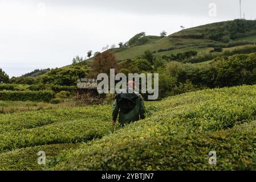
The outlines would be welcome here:
<svg viewBox="0 0 256 182">
<path fill-rule="evenodd" d="M 110 69 L 115 69 L 116 73 L 119 71 L 116 57 L 111 51 L 105 51 L 97 55 L 91 64 L 91 68 L 90 77 L 96 77 L 99 73 L 107 73 L 109 75 Z"/>
</svg>

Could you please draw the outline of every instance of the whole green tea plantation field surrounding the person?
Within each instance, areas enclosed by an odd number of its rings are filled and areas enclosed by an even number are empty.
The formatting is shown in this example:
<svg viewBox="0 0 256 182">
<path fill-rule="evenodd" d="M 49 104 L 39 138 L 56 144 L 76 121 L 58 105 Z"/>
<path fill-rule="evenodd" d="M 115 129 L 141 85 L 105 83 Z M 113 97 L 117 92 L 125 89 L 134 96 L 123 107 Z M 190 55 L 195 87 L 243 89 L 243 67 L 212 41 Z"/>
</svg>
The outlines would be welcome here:
<svg viewBox="0 0 256 182">
<path fill-rule="evenodd" d="M 110 105 L 1 114 L 0 169 L 253 170 L 255 98 L 256 85 L 185 93 L 147 102 L 147 118 L 123 128 Z"/>
</svg>

